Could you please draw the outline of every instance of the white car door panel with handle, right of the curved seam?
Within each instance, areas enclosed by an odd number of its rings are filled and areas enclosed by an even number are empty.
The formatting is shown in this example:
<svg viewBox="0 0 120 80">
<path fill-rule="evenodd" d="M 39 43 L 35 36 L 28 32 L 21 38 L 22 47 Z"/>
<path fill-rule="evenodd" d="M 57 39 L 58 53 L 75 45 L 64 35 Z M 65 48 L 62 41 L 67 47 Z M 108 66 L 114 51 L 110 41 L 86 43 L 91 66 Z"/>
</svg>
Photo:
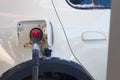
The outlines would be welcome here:
<svg viewBox="0 0 120 80">
<path fill-rule="evenodd" d="M 71 7 L 65 0 L 53 1 L 76 58 L 95 80 L 106 80 L 110 9 L 81 10 Z M 88 35 L 86 39 L 95 39 L 84 40 L 84 33 Z"/>
</svg>

